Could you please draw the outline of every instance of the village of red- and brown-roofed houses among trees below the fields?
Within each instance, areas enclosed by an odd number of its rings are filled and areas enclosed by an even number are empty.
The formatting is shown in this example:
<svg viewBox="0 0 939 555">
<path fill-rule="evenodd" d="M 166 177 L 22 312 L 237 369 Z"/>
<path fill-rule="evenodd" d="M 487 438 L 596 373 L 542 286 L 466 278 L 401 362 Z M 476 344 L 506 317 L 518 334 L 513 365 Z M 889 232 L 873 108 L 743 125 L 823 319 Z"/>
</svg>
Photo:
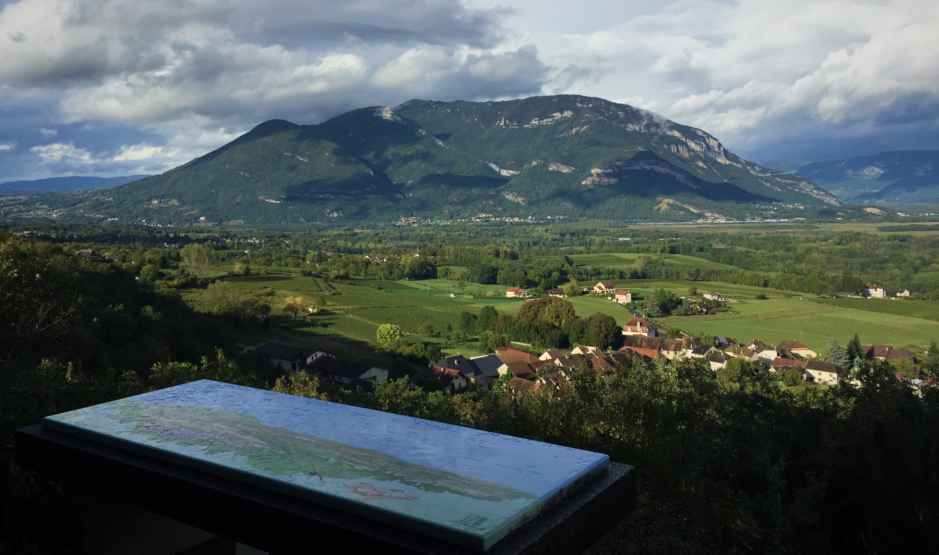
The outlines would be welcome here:
<svg viewBox="0 0 939 555">
<path fill-rule="evenodd" d="M 621 304 L 632 301 L 629 291 L 614 289 L 610 282 L 600 282 L 584 291 L 612 294 L 615 296 L 612 299 Z M 563 295 L 553 290 L 545 293 L 559 297 Z M 527 292 L 510 287 L 506 295 L 525 297 Z M 705 291 L 702 296 L 708 300 L 726 301 L 712 291 Z M 849 364 L 825 361 L 821 353 L 795 340 L 783 341 L 774 347 L 759 339 L 741 345 L 723 335 L 707 337 L 705 339 L 709 343 L 705 343 L 701 337 L 683 331 L 678 331 L 674 337 L 666 337 L 651 320 L 641 316 L 635 309 L 629 310 L 635 317 L 623 326 L 622 347 L 617 350 L 578 345 L 569 352 L 549 348 L 539 355 L 519 347 L 501 346 L 495 352 L 469 358 L 457 353 L 445 356 L 438 362 L 428 363 L 427 368 L 410 381 L 409 387 L 431 385 L 431 389 L 449 393 L 486 392 L 494 380 L 506 378 L 505 386 L 518 393 L 537 392 L 542 388 L 564 391 L 570 389 L 571 379 L 576 372 L 607 374 L 616 371 L 618 367 L 654 363 L 660 358 L 668 361 L 677 358 L 700 359 L 715 372 L 715 376 L 736 360 L 738 364 L 744 362 L 750 367 L 777 375 L 780 381 L 783 381 L 781 377 L 785 375 L 788 385 L 793 385 L 793 381 L 804 385 L 838 385 L 842 378 L 848 379 L 848 373 L 852 370 L 850 358 Z M 375 386 L 389 375 L 382 368 L 344 361 L 315 347 L 291 347 L 269 342 L 245 350 L 254 350 L 287 374 L 303 370 L 315 374 L 326 383 L 352 389 L 361 387 L 367 392 L 374 391 Z M 927 353 L 923 349 L 923 354 Z M 916 363 L 915 353 L 888 345 L 860 346 L 858 356 L 882 362 Z M 932 378 L 906 378 L 900 372 L 894 372 L 894 376 L 899 381 L 909 382 L 917 392 L 932 381 Z"/>
</svg>

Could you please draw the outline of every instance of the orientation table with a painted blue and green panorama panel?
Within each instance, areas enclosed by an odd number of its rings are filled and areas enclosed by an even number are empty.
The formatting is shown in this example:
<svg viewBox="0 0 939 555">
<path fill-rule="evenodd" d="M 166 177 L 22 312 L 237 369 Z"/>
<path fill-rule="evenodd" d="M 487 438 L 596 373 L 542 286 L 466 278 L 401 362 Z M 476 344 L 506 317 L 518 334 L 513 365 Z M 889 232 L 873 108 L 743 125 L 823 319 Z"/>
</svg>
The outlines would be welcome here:
<svg viewBox="0 0 939 555">
<path fill-rule="evenodd" d="M 47 417 L 16 455 L 278 555 L 577 552 L 636 502 L 607 455 L 210 380 Z"/>
</svg>

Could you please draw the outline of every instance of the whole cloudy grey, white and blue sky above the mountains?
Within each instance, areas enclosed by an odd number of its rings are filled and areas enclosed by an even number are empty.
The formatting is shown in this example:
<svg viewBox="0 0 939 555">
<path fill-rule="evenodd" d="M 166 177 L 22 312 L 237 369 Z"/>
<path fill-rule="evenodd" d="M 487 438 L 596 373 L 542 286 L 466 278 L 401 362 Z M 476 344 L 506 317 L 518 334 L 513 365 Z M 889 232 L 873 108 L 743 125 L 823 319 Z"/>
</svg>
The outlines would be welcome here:
<svg viewBox="0 0 939 555">
<path fill-rule="evenodd" d="M 939 148 L 939 2 L 0 0 L 0 182 L 156 174 L 282 117 L 577 93 L 749 160 Z"/>
</svg>

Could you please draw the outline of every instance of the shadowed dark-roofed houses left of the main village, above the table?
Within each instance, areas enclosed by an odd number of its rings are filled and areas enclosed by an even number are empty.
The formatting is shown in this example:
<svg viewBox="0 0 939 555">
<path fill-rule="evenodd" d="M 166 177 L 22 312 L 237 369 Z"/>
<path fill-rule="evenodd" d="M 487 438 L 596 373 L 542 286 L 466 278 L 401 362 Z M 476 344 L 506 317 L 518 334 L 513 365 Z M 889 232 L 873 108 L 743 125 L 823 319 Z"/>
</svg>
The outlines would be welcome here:
<svg viewBox="0 0 939 555">
<path fill-rule="evenodd" d="M 246 347 L 242 352 L 254 350 L 266 357 L 272 364 L 280 366 L 288 374 L 305 370 L 319 376 L 324 381 L 332 381 L 343 386 L 361 386 L 365 391 L 372 391 L 377 383 L 388 378 L 388 370 L 337 359 L 323 349 L 316 347 L 293 347 L 283 343 L 266 343 L 261 347 Z"/>
</svg>

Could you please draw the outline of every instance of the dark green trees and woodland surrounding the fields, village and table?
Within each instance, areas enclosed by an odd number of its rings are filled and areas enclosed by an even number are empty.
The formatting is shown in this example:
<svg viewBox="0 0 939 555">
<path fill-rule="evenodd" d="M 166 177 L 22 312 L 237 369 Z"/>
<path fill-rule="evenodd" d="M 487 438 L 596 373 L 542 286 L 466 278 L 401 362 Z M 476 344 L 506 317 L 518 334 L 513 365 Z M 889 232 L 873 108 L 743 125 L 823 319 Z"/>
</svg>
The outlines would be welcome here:
<svg viewBox="0 0 939 555">
<path fill-rule="evenodd" d="M 393 229 L 387 236 L 351 230 L 35 231 L 25 237 L 0 233 L 0 325 L 6 330 L 0 334 L 0 402 L 7 438 L 0 493 L 8 531 L 0 552 L 71 552 L 69 531 L 81 502 L 68 484 L 11 464 L 13 430 L 47 414 L 198 378 L 607 453 L 639 470 L 639 507 L 593 547 L 595 553 L 903 553 L 929 549 L 939 539 L 939 391 L 929 386 L 917 393 L 894 378 L 886 363 L 859 362 L 850 375 L 856 382 L 835 387 L 784 387 L 779 377 L 755 365 L 742 365 L 738 375 L 716 375 L 700 362 L 679 359 L 621 365 L 607 375 L 575 373 L 573 389 L 565 393 L 550 388 L 513 393 L 500 380 L 487 393 L 454 395 L 409 390 L 408 378 L 385 382 L 375 393 L 347 391 L 303 373 L 278 378 L 225 347 L 233 345 L 239 327 L 265 325 L 264 311 L 257 308 L 263 300 L 226 292 L 221 285 L 187 282 L 183 285 L 218 289 L 210 305 L 193 308 L 176 289 L 140 279 L 139 270 L 170 267 L 186 256 L 182 249 L 196 243 L 210 246 L 217 259 L 254 267 L 296 260 L 303 270 L 316 268 L 306 263 L 310 259 L 319 262 L 317 271 L 342 273 L 342 261 L 380 252 L 432 259 L 435 270 L 461 268 L 468 278 L 485 267 L 495 271 L 497 281 L 512 275 L 548 284 L 580 279 L 589 271 L 604 275 L 605 270 L 564 258 L 577 253 L 632 250 L 652 258 L 643 270 L 684 268 L 655 263 L 668 248 L 732 262 L 741 269 L 733 271 L 762 274 L 765 280 L 774 272 L 787 274 L 785 265 L 792 261 L 792 275 L 808 280 L 816 274 L 813 279 L 831 286 L 833 277 L 896 275 L 900 280 L 909 272 L 932 271 L 931 238 L 804 230 L 660 240 L 655 232 L 643 232 L 633 233 L 623 247 L 609 235 L 598 237 L 597 230 L 571 230 L 577 241 L 570 242 L 580 244 L 563 245 L 566 232 L 551 235 L 545 228 L 530 228 L 528 239 L 513 236 L 514 229 L 504 238 L 490 232 L 475 239 L 446 234 L 435 239 L 436 231 L 412 229 Z M 539 245 L 522 248 L 523 241 Z M 223 248 L 231 243 L 238 247 Z M 79 247 L 110 250 L 123 259 L 93 264 L 73 254 Z M 414 258 L 415 252 L 422 256 Z M 865 257 L 863 267 L 852 262 L 859 256 Z M 400 267 L 407 271 L 415 264 Z M 353 266 L 346 268 L 350 273 Z M 486 271 L 485 278 L 492 279 Z M 467 313 L 460 329 L 513 334 L 527 326 L 529 332 L 559 330 L 578 340 L 607 340 L 608 321 L 565 318 L 565 309 L 560 302 L 539 301 L 513 318 L 491 310 Z"/>
</svg>

